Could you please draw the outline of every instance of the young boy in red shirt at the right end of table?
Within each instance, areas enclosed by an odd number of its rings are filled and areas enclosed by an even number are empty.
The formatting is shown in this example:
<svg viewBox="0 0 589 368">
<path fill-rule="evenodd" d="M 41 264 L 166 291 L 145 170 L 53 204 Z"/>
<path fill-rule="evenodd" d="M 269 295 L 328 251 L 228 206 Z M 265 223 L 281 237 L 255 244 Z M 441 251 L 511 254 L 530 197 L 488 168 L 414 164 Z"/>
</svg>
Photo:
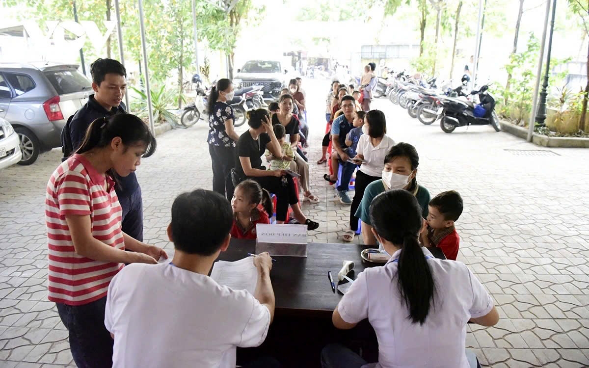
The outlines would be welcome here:
<svg viewBox="0 0 589 368">
<path fill-rule="evenodd" d="M 457 191 L 450 190 L 436 195 L 429 201 L 427 228 L 421 233 L 421 243 L 425 247 L 438 247 L 449 260 L 456 260 L 460 237 L 456 233 L 457 221 L 464 203 Z"/>
</svg>

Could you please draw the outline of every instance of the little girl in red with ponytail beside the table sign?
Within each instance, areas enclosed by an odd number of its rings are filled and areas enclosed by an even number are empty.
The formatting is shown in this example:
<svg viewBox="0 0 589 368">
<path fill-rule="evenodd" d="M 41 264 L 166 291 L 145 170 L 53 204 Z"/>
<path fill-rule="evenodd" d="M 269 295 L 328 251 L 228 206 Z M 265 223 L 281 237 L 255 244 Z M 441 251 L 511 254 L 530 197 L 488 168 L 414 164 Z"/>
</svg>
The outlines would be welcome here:
<svg viewBox="0 0 589 368">
<path fill-rule="evenodd" d="M 270 193 L 253 180 L 237 184 L 231 198 L 231 208 L 233 226 L 230 234 L 237 239 L 255 239 L 256 224 L 269 224 L 274 212 Z"/>
</svg>

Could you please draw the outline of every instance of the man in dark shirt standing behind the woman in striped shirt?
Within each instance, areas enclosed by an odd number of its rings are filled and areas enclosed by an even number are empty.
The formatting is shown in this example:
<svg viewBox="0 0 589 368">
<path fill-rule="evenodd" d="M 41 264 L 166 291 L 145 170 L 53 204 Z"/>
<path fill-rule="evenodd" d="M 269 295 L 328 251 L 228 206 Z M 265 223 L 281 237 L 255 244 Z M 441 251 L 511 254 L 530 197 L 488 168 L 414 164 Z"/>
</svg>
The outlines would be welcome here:
<svg viewBox="0 0 589 368">
<path fill-rule="evenodd" d="M 125 112 L 125 106 L 121 102 L 127 89 L 125 67 L 113 59 L 97 59 L 90 68 L 94 94 L 90 95 L 88 102 L 68 119 L 61 132 L 63 161 L 78 150 L 92 121 Z M 137 177 L 135 173 L 131 173 L 126 177 L 117 175 L 115 180 L 118 201 L 123 208 L 123 232 L 143 241 L 143 200 Z"/>
</svg>

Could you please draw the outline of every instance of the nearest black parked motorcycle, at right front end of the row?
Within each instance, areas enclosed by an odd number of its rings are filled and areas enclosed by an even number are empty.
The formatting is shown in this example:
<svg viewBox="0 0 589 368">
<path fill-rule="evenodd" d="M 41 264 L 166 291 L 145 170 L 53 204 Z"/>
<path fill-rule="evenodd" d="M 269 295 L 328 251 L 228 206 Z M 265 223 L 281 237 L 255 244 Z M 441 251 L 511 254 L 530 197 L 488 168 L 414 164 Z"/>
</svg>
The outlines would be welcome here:
<svg viewBox="0 0 589 368">
<path fill-rule="evenodd" d="M 442 131 L 451 133 L 456 127 L 469 125 L 491 125 L 495 131 L 501 131 L 499 117 L 495 112 L 495 98 L 488 92 L 488 88 L 488 85 L 484 85 L 478 91 L 471 92 L 471 95 L 478 95 L 479 104 L 485 109 L 483 117 L 475 116 L 475 104 L 472 101 L 458 97 L 440 98 L 441 107 L 436 112 L 436 120 L 440 120 Z"/>
</svg>

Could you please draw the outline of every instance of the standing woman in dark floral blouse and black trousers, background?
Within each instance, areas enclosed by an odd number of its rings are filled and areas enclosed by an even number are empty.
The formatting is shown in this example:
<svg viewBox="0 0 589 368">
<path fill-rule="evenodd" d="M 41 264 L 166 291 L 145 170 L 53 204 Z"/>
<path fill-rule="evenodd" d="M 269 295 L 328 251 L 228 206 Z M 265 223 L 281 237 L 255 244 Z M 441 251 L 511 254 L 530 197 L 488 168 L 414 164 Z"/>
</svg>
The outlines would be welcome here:
<svg viewBox="0 0 589 368">
<path fill-rule="evenodd" d="M 213 191 L 233 198 L 231 169 L 235 167 L 235 142 L 239 135 L 233 129 L 235 115 L 227 101 L 235 92 L 229 79 L 219 79 L 209 95 L 209 154 L 213 163 Z"/>
</svg>

